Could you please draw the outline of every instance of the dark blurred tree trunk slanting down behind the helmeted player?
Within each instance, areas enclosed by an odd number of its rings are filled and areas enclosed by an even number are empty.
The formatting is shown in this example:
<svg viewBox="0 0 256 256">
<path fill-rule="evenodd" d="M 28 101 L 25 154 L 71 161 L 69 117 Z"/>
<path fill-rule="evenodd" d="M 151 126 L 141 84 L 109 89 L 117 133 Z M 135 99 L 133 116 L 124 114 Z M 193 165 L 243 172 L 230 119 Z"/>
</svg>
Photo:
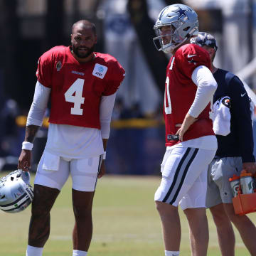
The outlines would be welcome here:
<svg viewBox="0 0 256 256">
<path fill-rule="evenodd" d="M 170 4 L 182 4 L 183 1 L 168 1 L 166 6 Z M 149 69 L 153 75 L 156 85 L 161 92 L 164 92 L 164 84 L 166 80 L 166 66 L 169 59 L 165 53 L 158 52 L 154 46 L 152 38 L 156 35 L 153 30 L 155 21 L 152 21 L 148 14 L 148 6 L 146 0 L 128 0 L 127 9 L 129 11 L 132 24 L 142 46 L 144 57 L 149 65 Z"/>
</svg>

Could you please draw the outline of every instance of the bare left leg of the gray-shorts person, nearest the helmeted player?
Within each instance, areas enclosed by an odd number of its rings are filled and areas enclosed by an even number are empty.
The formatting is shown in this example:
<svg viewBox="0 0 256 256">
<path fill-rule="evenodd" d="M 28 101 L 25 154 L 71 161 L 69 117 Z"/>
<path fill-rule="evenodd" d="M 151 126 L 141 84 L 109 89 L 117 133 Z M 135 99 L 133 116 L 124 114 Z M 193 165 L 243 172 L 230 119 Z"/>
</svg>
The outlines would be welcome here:
<svg viewBox="0 0 256 256">
<path fill-rule="evenodd" d="M 213 220 L 217 228 L 218 243 L 220 245 L 220 251 L 222 256 L 234 256 L 235 255 L 235 233 L 223 208 L 223 203 L 218 204 L 210 208 L 210 212 L 213 215 Z"/>
</svg>

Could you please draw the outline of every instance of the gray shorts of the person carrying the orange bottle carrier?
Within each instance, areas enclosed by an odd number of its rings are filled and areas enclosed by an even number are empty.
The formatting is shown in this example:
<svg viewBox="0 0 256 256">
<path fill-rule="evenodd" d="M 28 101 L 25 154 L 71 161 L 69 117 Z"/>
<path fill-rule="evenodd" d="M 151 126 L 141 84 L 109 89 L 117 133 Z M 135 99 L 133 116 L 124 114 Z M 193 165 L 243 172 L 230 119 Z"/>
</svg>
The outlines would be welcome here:
<svg viewBox="0 0 256 256">
<path fill-rule="evenodd" d="M 233 193 L 229 178 L 242 171 L 241 157 L 215 158 L 208 168 L 208 186 L 206 207 L 217 206 L 219 203 L 232 203 Z"/>
</svg>

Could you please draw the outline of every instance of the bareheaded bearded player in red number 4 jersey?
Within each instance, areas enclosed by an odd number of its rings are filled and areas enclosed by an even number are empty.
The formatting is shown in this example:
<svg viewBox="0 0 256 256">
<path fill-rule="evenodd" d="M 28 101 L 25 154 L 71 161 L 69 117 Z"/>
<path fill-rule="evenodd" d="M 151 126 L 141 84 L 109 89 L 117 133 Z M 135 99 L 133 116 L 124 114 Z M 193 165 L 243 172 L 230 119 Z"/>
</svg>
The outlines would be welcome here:
<svg viewBox="0 0 256 256">
<path fill-rule="evenodd" d="M 48 138 L 34 181 L 27 256 L 41 256 L 50 233 L 50 209 L 69 174 L 73 181 L 73 256 L 85 256 L 92 238 L 92 200 L 104 159 L 115 95 L 124 69 L 108 54 L 94 51 L 95 24 L 74 23 L 71 46 L 56 46 L 41 55 L 33 103 L 18 169 L 28 171 L 36 132 L 48 100 Z"/>
</svg>

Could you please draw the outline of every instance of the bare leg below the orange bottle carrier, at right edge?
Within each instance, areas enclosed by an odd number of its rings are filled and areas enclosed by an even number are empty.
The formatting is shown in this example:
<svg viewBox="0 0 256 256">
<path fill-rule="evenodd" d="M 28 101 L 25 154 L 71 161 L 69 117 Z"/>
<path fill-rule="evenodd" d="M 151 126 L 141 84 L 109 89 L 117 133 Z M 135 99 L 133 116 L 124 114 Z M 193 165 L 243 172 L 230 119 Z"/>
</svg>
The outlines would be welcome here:
<svg viewBox="0 0 256 256">
<path fill-rule="evenodd" d="M 233 222 L 238 232 L 241 235 L 242 242 L 244 242 L 250 255 L 256 256 L 256 228 L 250 218 L 246 215 L 236 215 L 232 203 L 223 203 L 225 212 L 227 213 L 230 220 Z"/>
</svg>

